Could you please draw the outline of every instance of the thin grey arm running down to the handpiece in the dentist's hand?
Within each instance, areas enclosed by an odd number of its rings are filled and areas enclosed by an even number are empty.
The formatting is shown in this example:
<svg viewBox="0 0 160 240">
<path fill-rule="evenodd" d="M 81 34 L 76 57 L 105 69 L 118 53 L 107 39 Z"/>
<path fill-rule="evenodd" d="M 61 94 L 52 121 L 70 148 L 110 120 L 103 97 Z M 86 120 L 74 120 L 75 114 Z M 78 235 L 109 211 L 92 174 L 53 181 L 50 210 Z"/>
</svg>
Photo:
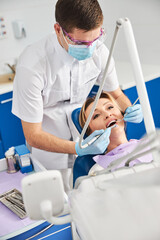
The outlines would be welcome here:
<svg viewBox="0 0 160 240">
<path fill-rule="evenodd" d="M 94 103 L 93 103 L 93 106 L 92 106 L 92 109 L 90 111 L 90 114 L 87 118 L 87 121 L 83 127 L 83 130 L 82 130 L 82 133 L 80 135 L 80 139 L 79 139 L 79 147 L 82 149 L 82 148 L 86 148 L 88 147 L 89 145 L 91 145 L 94 141 L 97 140 L 98 137 L 100 137 L 100 135 L 96 136 L 93 138 L 93 141 L 89 142 L 89 143 L 86 143 L 85 145 L 82 145 L 82 141 L 83 141 L 83 137 L 84 137 L 84 134 L 86 133 L 86 130 L 88 128 L 88 125 L 90 123 L 90 120 L 93 116 L 93 113 L 94 113 L 94 110 L 96 108 L 96 105 L 97 105 L 97 102 L 98 102 L 98 99 L 101 95 L 101 92 L 103 90 L 103 86 L 104 86 L 104 83 L 105 83 L 105 77 L 106 77 L 106 74 L 108 72 L 108 69 L 109 69 L 109 65 L 110 65 L 110 61 L 111 61 L 111 57 L 112 57 L 112 53 L 113 53 L 113 48 L 114 48 L 114 45 L 115 45 L 115 41 L 116 41 L 116 37 L 117 37 L 117 33 L 118 33 L 118 30 L 119 28 L 121 27 L 121 25 L 119 25 L 119 23 L 117 23 L 116 25 L 116 29 L 115 29 L 115 32 L 114 32 L 114 36 L 113 36 L 113 40 L 112 40 L 112 44 L 111 44 L 111 48 L 110 48 L 110 52 L 109 52 L 109 56 L 108 56 L 108 60 L 107 60 L 107 63 L 106 63 L 106 66 L 105 66 L 105 69 L 104 69 L 104 74 L 103 74 L 103 79 L 102 79 L 102 83 L 101 85 L 99 86 L 99 89 L 98 89 L 98 92 L 97 92 L 97 95 L 96 95 L 96 98 L 94 100 Z"/>
</svg>

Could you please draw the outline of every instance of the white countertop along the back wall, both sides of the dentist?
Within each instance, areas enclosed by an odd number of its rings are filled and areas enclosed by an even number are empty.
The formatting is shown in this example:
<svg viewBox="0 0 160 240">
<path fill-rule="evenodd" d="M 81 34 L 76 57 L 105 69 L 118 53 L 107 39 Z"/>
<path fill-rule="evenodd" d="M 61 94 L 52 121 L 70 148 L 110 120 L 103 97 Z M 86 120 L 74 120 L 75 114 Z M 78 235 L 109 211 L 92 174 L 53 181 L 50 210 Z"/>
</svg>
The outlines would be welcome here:
<svg viewBox="0 0 160 240">
<path fill-rule="evenodd" d="M 122 90 L 135 86 L 132 66 L 129 62 L 116 62 L 116 70 Z M 145 82 L 160 77 L 160 64 L 141 64 Z M 5 79 L 4 79 L 5 77 Z M 0 76 L 0 94 L 13 90 L 14 74 Z M 11 78 L 12 80 L 8 80 Z"/>
</svg>

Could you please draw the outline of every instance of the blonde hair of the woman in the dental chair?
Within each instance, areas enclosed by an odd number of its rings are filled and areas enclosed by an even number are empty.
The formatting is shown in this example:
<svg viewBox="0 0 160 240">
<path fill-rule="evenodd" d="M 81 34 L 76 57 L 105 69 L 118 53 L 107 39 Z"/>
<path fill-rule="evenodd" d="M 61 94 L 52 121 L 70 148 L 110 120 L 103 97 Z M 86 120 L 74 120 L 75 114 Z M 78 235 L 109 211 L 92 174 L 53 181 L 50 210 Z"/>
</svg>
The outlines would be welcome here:
<svg viewBox="0 0 160 240">
<path fill-rule="evenodd" d="M 87 100 L 85 101 L 85 103 L 83 104 L 82 108 L 81 108 L 81 111 L 80 111 L 80 114 L 79 114 L 79 123 L 81 125 L 81 127 L 83 128 L 84 125 L 85 125 L 85 122 L 87 121 L 86 119 L 86 109 L 88 108 L 88 106 L 94 102 L 95 100 L 95 97 L 89 97 L 87 98 Z M 107 98 L 109 99 L 122 113 L 122 115 L 124 115 L 122 109 L 120 108 L 120 106 L 118 105 L 117 101 L 107 92 L 102 92 L 101 95 L 100 95 L 100 98 Z M 87 135 L 90 135 L 91 134 L 91 129 L 90 127 L 88 126 L 87 128 L 87 131 L 86 131 L 86 134 Z"/>
</svg>

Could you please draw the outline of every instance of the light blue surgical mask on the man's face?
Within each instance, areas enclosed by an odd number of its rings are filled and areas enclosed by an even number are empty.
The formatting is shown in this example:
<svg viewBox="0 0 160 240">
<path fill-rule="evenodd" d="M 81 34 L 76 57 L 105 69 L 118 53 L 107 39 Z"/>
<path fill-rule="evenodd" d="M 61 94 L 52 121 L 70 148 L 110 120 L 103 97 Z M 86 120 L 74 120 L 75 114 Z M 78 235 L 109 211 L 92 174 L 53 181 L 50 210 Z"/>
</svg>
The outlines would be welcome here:
<svg viewBox="0 0 160 240">
<path fill-rule="evenodd" d="M 94 52 L 94 49 L 96 47 L 97 41 L 93 42 L 92 45 L 72 45 L 68 44 L 68 53 L 80 60 L 85 60 L 87 58 L 90 58 Z"/>
</svg>

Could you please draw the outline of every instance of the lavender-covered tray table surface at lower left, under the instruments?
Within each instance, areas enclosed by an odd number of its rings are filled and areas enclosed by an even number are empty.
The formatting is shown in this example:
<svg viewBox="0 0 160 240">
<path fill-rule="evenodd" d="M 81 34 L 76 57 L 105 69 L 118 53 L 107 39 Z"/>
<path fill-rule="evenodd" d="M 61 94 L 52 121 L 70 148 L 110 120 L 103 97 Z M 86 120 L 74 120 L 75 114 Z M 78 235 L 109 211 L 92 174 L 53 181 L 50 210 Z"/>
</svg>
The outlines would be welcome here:
<svg viewBox="0 0 160 240">
<path fill-rule="evenodd" d="M 36 159 L 34 159 L 32 155 L 31 158 L 35 172 L 46 171 L 46 169 Z M 18 190 L 21 191 L 21 180 L 27 174 L 22 174 L 20 171 L 17 173 L 8 174 L 6 173 L 6 170 L 7 170 L 6 159 L 5 158 L 0 159 L 0 183 L 1 183 L 0 194 L 13 188 L 17 188 Z M 15 214 L 10 212 L 10 210 L 3 206 L 2 203 L 0 203 L 0 209 L 1 209 L 0 221 L 2 227 L 0 230 L 0 240 L 12 238 L 44 223 L 43 220 L 33 221 L 30 220 L 28 217 L 23 220 L 20 220 Z"/>
</svg>

